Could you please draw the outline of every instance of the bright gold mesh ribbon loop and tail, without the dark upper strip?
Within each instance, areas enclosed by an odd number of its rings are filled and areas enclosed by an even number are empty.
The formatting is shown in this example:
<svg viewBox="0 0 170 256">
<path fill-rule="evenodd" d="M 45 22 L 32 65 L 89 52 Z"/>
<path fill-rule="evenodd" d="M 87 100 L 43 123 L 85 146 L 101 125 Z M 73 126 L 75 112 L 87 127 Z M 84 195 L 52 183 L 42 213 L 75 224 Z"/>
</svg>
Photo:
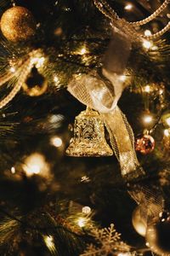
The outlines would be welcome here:
<svg viewBox="0 0 170 256">
<path fill-rule="evenodd" d="M 122 82 L 116 73 L 109 76 L 111 76 L 110 80 L 114 80 L 114 88 L 109 89 L 103 80 L 93 74 L 84 74 L 72 79 L 68 90 L 77 100 L 101 113 L 110 134 L 111 146 L 120 162 L 122 176 L 128 180 L 139 177 L 144 171 L 139 166 L 134 151 L 132 128 L 125 115 L 116 106 L 122 95 Z"/>
</svg>

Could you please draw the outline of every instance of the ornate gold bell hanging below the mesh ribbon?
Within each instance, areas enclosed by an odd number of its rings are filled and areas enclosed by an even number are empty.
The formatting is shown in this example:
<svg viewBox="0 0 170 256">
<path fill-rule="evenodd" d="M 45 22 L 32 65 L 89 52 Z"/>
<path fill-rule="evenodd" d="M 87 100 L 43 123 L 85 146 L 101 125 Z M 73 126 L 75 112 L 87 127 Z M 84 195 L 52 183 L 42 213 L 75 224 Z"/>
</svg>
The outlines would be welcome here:
<svg viewBox="0 0 170 256">
<path fill-rule="evenodd" d="M 91 108 L 82 111 L 75 119 L 74 137 L 66 149 L 70 156 L 110 156 L 113 154 L 105 141 L 104 122 L 100 114 Z"/>
</svg>

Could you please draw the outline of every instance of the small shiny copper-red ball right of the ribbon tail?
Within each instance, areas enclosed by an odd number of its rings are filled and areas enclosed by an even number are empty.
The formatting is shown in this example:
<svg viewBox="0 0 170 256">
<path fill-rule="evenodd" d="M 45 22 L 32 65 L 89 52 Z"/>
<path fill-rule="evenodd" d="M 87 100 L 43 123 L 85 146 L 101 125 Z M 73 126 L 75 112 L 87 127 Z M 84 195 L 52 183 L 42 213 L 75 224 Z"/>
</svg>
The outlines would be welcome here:
<svg viewBox="0 0 170 256">
<path fill-rule="evenodd" d="M 137 138 L 135 143 L 135 150 L 142 154 L 150 154 L 155 148 L 155 140 L 150 135 L 144 135 L 143 137 Z"/>
</svg>

